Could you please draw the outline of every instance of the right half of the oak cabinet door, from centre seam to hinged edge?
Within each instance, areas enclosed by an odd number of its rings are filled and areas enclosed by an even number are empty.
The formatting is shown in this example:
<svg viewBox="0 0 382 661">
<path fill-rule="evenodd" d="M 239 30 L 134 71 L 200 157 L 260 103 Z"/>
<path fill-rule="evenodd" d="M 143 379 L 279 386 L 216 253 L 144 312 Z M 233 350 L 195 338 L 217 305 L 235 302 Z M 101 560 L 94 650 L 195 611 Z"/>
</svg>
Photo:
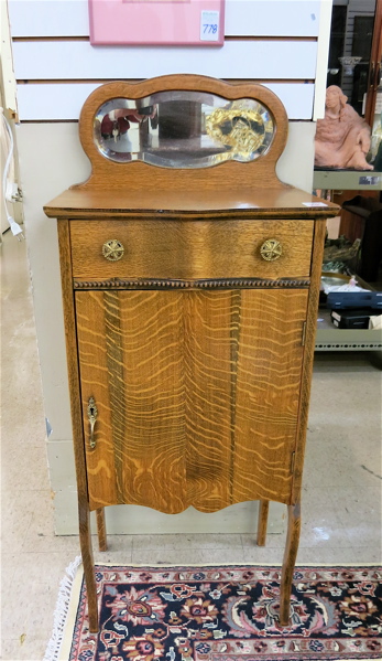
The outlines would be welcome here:
<svg viewBox="0 0 382 661">
<path fill-rule="evenodd" d="M 270 289 L 189 296 L 187 486 L 196 509 L 290 502 L 307 298 Z"/>
</svg>

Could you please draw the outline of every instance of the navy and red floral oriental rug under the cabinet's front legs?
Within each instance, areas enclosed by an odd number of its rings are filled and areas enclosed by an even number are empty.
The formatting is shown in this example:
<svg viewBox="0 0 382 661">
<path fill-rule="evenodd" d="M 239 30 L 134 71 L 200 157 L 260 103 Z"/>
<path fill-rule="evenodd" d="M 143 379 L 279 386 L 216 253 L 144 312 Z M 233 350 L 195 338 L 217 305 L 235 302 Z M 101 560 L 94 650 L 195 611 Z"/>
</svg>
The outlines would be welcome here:
<svg viewBox="0 0 382 661">
<path fill-rule="evenodd" d="M 99 633 L 79 574 L 61 651 L 51 641 L 45 661 L 381 659 L 381 568 L 296 567 L 287 627 L 280 578 L 274 566 L 97 565 Z"/>
</svg>

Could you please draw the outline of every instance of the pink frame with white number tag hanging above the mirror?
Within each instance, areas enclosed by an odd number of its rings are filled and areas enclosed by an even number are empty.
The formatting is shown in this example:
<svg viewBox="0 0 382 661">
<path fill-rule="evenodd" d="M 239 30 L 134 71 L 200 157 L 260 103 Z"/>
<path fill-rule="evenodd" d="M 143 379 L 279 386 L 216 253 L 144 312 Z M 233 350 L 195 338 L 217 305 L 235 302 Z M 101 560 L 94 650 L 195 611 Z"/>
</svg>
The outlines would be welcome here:
<svg viewBox="0 0 382 661">
<path fill-rule="evenodd" d="M 90 43 L 221 46 L 225 0 L 89 0 Z"/>
</svg>

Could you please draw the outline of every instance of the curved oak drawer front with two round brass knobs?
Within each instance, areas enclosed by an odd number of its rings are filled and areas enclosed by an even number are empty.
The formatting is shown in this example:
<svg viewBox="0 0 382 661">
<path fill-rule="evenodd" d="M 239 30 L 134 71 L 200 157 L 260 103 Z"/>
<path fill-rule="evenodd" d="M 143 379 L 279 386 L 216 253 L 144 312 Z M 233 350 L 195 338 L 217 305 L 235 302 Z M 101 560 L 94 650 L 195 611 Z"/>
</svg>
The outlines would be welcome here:
<svg viewBox="0 0 382 661">
<path fill-rule="evenodd" d="M 313 228 L 314 221 L 70 221 L 73 276 L 76 280 L 308 277 Z M 263 256 L 269 239 L 277 244 Z M 114 241 L 117 250 L 108 243 Z"/>
</svg>

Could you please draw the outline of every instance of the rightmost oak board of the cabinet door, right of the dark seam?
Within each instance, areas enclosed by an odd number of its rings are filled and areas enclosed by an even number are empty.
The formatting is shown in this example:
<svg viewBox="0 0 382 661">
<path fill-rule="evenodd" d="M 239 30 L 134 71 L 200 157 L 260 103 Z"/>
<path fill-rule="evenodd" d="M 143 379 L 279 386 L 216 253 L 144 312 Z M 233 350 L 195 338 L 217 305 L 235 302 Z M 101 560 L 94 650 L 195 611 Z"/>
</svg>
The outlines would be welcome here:
<svg viewBox="0 0 382 661">
<path fill-rule="evenodd" d="M 241 296 L 233 500 L 288 502 L 308 292 Z"/>
</svg>

